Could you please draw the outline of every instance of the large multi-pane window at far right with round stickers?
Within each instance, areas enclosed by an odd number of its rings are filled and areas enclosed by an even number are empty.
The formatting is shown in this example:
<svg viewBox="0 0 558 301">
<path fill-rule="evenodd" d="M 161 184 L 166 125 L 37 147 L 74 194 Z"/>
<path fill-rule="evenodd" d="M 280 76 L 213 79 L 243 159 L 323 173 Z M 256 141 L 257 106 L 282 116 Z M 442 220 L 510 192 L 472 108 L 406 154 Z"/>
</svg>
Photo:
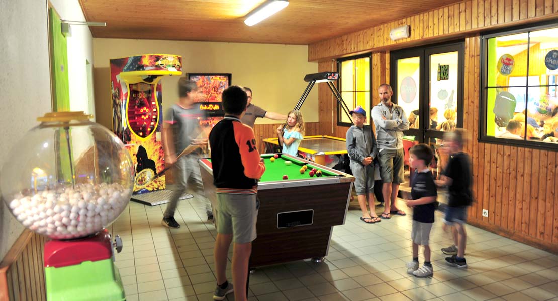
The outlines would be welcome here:
<svg viewBox="0 0 558 301">
<path fill-rule="evenodd" d="M 480 139 L 558 149 L 558 27 L 482 38 Z"/>
</svg>

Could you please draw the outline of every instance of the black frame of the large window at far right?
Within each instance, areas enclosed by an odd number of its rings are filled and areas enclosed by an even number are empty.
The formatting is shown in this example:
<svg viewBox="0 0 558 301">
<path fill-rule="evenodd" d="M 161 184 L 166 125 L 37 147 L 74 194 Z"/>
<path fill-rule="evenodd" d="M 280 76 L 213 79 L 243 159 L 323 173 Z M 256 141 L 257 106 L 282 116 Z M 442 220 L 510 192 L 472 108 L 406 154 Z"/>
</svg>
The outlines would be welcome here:
<svg viewBox="0 0 558 301">
<path fill-rule="evenodd" d="M 486 134 L 487 131 L 487 94 L 488 94 L 488 39 L 507 36 L 508 34 L 517 34 L 517 33 L 528 33 L 532 31 L 538 31 L 541 29 L 548 29 L 554 28 L 558 25 L 556 22 L 539 22 L 535 24 L 530 24 L 528 26 L 519 26 L 513 27 L 508 30 L 500 30 L 500 31 L 490 31 L 486 33 L 480 34 L 480 76 L 479 76 L 479 101 L 480 101 L 480 110 L 479 110 L 479 132 L 478 132 L 478 141 L 487 143 L 487 144 L 497 144 L 497 145 L 507 145 L 507 146 L 517 146 L 517 147 L 526 147 L 528 149 L 542 149 L 542 150 L 550 150 L 550 151 L 558 151 L 558 143 L 552 142 L 542 142 L 540 140 L 527 140 L 524 138 L 523 140 L 517 139 L 509 139 L 509 138 L 500 138 L 495 136 L 488 136 Z M 527 40 L 528 47 L 530 48 L 529 38 Z M 529 57 L 527 57 L 527 75 L 529 75 Z M 529 86 L 527 81 L 527 85 L 525 86 L 526 91 L 528 91 L 529 87 L 536 87 L 536 86 Z M 494 87 L 492 87 L 494 88 Z M 525 105 L 526 110 L 528 106 L 528 95 L 525 95 Z M 525 121 L 527 123 L 527 120 Z"/>
</svg>

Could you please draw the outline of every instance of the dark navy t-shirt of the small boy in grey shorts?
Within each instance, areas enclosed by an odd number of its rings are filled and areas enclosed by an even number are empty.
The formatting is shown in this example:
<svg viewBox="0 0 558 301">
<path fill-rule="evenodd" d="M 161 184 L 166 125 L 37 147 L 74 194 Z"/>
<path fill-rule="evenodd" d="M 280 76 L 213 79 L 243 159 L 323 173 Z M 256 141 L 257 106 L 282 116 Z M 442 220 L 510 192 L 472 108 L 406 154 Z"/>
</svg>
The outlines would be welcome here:
<svg viewBox="0 0 558 301">
<path fill-rule="evenodd" d="M 417 200 L 425 196 L 438 196 L 436 184 L 432 180 L 432 172 L 417 172 L 411 183 L 411 198 Z M 416 205 L 413 207 L 413 220 L 421 223 L 434 223 L 434 211 L 436 201 L 424 205 Z"/>
</svg>

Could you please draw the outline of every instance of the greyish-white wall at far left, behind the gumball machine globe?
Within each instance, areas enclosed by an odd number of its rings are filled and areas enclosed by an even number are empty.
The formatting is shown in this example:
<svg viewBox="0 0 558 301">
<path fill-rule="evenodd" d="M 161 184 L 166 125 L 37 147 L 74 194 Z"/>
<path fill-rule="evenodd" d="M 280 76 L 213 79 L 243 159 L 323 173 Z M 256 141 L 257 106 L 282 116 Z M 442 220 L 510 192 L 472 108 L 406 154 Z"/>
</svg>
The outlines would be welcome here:
<svg viewBox="0 0 558 301">
<path fill-rule="evenodd" d="M 77 1 L 76 1 L 77 2 Z M 15 141 L 37 125 L 37 116 L 52 110 L 49 40 L 45 0 L 0 0 L 0 164 Z M 0 173 L 0 180 L 4 175 Z M 23 226 L 0 203 L 0 260 L 23 231 Z"/>
</svg>

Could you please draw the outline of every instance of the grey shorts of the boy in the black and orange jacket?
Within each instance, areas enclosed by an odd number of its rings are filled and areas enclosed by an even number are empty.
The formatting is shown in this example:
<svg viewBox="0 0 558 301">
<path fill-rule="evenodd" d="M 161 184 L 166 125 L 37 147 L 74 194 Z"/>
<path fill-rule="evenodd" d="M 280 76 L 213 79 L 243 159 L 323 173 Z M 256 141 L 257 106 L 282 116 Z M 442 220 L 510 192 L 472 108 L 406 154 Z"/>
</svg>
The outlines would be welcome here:
<svg viewBox="0 0 558 301">
<path fill-rule="evenodd" d="M 233 234 L 237 244 L 256 239 L 257 194 L 217 194 L 217 233 Z"/>
</svg>

